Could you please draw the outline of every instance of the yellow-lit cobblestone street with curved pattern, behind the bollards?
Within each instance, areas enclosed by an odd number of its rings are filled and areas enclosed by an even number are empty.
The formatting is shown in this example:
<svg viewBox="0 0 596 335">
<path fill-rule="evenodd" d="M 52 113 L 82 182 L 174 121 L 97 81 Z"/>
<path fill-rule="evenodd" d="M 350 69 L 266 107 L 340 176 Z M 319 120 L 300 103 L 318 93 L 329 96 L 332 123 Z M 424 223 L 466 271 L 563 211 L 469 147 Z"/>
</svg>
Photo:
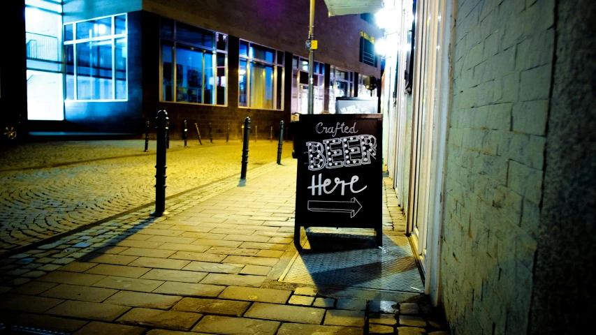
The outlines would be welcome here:
<svg viewBox="0 0 596 335">
<path fill-rule="evenodd" d="M 140 140 L 4 148 L 0 254 L 154 201 L 154 145 L 152 141 L 149 153 L 143 153 Z M 166 195 L 240 174 L 240 142 L 190 145 L 184 149 L 184 142 L 170 142 Z M 284 149 L 284 157 L 290 156 L 291 143 Z M 252 169 L 276 157 L 277 143 L 251 142 L 248 177 Z M 48 165 L 56 167 L 43 168 Z"/>
</svg>

